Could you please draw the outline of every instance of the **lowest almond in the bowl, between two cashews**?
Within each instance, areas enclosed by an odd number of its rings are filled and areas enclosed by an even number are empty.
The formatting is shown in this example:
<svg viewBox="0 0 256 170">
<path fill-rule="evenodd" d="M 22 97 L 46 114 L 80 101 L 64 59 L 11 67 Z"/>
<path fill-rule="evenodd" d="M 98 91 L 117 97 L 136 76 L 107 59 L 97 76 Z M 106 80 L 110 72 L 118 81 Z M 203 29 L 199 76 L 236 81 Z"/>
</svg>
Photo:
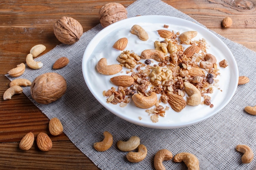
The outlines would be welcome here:
<svg viewBox="0 0 256 170">
<path fill-rule="evenodd" d="M 166 94 L 168 97 L 168 103 L 175 112 L 180 112 L 186 106 L 186 100 L 183 97 L 175 94 Z"/>
</svg>

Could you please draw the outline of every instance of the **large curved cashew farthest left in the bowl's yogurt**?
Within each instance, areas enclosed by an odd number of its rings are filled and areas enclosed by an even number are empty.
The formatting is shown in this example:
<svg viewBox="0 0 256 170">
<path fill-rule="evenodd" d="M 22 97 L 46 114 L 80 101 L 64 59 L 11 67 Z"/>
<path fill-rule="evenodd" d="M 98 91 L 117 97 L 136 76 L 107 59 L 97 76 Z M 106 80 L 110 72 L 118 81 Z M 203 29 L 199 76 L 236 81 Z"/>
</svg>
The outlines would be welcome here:
<svg viewBox="0 0 256 170">
<path fill-rule="evenodd" d="M 103 75 L 114 75 L 122 70 L 119 64 L 108 65 L 106 58 L 101 58 L 96 65 L 97 71 Z"/>
</svg>

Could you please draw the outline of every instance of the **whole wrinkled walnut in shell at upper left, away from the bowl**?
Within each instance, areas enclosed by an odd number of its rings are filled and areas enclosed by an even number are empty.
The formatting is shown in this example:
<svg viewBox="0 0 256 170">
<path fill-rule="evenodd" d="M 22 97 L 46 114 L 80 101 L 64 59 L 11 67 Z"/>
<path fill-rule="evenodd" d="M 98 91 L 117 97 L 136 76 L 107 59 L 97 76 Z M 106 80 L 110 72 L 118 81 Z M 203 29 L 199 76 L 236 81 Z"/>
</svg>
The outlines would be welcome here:
<svg viewBox="0 0 256 170">
<path fill-rule="evenodd" d="M 53 26 L 54 35 L 63 44 L 74 44 L 83 35 L 82 25 L 71 17 L 61 17 Z"/>
</svg>

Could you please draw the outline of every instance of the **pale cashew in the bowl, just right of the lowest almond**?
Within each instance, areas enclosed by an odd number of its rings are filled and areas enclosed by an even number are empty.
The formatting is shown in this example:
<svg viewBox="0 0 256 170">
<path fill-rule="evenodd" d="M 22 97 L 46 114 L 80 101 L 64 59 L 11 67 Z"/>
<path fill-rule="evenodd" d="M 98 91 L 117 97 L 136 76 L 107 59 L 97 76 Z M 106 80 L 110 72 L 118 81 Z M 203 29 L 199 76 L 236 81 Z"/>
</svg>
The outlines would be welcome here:
<svg viewBox="0 0 256 170">
<path fill-rule="evenodd" d="M 201 93 L 193 84 L 184 82 L 184 90 L 189 95 L 187 97 L 187 104 L 191 106 L 198 106 L 201 103 Z"/>
</svg>

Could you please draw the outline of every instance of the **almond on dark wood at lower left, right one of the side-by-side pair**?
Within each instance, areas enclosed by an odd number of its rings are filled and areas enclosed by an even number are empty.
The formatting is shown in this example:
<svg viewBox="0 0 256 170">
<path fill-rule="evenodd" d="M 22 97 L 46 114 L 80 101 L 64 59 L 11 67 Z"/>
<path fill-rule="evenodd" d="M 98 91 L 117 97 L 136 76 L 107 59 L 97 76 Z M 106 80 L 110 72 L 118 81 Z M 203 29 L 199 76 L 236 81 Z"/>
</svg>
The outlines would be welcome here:
<svg viewBox="0 0 256 170">
<path fill-rule="evenodd" d="M 42 151 L 49 151 L 52 149 L 52 140 L 44 132 L 40 132 L 37 135 L 36 143 L 37 143 L 38 148 Z"/>
</svg>

